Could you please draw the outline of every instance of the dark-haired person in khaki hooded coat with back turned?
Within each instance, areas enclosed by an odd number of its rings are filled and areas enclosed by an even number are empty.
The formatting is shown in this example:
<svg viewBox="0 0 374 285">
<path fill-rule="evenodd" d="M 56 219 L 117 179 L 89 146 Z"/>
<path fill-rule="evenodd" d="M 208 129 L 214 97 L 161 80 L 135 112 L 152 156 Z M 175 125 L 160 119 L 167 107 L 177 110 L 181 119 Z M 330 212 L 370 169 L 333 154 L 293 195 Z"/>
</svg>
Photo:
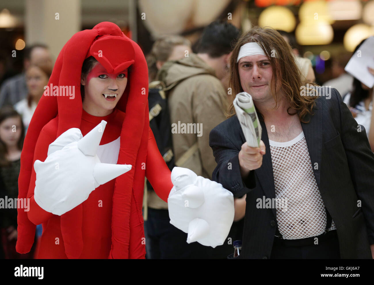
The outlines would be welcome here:
<svg viewBox="0 0 374 285">
<path fill-rule="evenodd" d="M 175 164 L 209 179 L 217 166 L 209 132 L 226 119 L 228 90 L 221 80 L 227 75 L 232 46 L 239 34 L 231 24 L 213 22 L 203 31 L 197 54 L 186 53 L 180 60 L 166 62 L 157 75 L 166 86 Z M 245 198 L 235 203 L 235 207 L 245 204 Z M 244 212 L 234 221 L 243 216 Z M 241 239 L 242 227 L 241 222 L 233 224 L 229 238 Z M 230 242 L 215 249 L 194 243 L 180 246 L 190 252 L 188 258 L 226 258 L 233 251 Z"/>
</svg>

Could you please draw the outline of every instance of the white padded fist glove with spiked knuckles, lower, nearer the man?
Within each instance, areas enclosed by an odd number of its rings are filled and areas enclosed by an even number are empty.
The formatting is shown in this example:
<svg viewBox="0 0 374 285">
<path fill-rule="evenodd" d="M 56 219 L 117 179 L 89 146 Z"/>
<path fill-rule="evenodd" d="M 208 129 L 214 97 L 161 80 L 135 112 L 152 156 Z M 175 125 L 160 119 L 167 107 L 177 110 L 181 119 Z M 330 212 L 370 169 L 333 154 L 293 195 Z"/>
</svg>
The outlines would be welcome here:
<svg viewBox="0 0 374 285">
<path fill-rule="evenodd" d="M 168 198 L 170 223 L 188 233 L 187 243 L 223 245 L 234 220 L 234 197 L 222 184 L 174 167 Z"/>
</svg>

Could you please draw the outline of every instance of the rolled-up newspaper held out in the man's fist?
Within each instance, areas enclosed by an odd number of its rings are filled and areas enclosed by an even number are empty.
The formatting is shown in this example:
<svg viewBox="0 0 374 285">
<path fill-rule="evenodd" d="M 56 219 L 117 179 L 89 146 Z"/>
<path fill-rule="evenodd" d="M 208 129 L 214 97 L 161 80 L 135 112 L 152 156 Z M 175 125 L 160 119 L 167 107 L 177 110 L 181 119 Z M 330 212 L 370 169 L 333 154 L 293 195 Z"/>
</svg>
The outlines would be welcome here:
<svg viewBox="0 0 374 285">
<path fill-rule="evenodd" d="M 234 108 L 248 146 L 259 147 L 262 129 L 252 96 L 246 92 L 236 94 Z"/>
</svg>

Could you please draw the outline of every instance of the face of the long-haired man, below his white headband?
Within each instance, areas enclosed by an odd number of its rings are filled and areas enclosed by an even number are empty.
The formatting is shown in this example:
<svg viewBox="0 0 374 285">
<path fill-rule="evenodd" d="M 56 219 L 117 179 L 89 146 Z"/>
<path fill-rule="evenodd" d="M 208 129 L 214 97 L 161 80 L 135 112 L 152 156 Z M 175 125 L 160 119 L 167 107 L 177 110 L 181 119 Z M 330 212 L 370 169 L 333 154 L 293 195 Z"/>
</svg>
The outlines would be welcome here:
<svg viewBox="0 0 374 285">
<path fill-rule="evenodd" d="M 240 84 L 254 101 L 272 98 L 271 81 L 273 77 L 270 60 L 265 55 L 248 55 L 238 63 Z"/>
</svg>

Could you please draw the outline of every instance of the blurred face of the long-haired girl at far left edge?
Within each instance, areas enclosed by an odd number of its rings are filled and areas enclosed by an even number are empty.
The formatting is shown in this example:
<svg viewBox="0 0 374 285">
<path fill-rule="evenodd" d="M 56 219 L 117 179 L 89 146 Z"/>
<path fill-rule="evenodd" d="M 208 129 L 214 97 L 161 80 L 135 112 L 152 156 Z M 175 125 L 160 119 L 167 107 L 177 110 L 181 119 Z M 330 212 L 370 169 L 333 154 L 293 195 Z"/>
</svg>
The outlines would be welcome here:
<svg viewBox="0 0 374 285">
<path fill-rule="evenodd" d="M 19 116 L 5 119 L 0 124 L 0 139 L 7 147 L 15 146 L 22 133 L 22 122 Z"/>
</svg>

